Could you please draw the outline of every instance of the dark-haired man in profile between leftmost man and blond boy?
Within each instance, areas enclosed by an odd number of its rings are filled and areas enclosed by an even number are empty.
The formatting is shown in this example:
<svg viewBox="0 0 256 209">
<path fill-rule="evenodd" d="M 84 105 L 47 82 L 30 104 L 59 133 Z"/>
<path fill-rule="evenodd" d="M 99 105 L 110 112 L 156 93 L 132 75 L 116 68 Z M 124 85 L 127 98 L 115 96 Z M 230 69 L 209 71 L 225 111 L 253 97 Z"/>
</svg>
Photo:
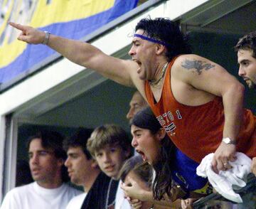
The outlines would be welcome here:
<svg viewBox="0 0 256 209">
<path fill-rule="evenodd" d="M 90 130 L 80 128 L 77 133 L 64 141 L 64 149 L 68 154 L 65 166 L 68 168 L 70 181 L 77 186 L 82 186 L 85 191 L 70 200 L 66 209 L 81 208 L 88 191 L 100 174 L 100 168 L 86 148 L 90 134 Z"/>
</svg>

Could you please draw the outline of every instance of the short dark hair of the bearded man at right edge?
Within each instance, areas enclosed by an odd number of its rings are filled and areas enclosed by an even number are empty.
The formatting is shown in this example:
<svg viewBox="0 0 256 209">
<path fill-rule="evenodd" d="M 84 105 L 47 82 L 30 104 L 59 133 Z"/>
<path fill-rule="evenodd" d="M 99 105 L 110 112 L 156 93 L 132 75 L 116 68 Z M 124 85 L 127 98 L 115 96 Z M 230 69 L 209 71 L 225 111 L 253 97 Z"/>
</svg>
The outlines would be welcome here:
<svg viewBox="0 0 256 209">
<path fill-rule="evenodd" d="M 256 31 L 253 31 L 239 39 L 235 45 L 235 51 L 252 50 L 252 57 L 256 58 Z"/>
</svg>

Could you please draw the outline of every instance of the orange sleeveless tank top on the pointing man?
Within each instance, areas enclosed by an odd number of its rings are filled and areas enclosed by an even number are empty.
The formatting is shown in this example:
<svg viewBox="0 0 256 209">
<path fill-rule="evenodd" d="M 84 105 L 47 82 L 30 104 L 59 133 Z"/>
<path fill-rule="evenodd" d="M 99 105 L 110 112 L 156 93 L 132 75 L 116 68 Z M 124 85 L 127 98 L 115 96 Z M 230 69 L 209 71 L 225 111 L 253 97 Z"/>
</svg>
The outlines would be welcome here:
<svg viewBox="0 0 256 209">
<path fill-rule="evenodd" d="M 174 144 L 188 157 L 201 162 L 215 152 L 223 139 L 224 109 L 221 97 L 200 106 L 188 106 L 176 101 L 171 92 L 171 66 L 166 70 L 159 102 L 155 102 L 149 81 L 145 82 L 146 99 Z M 237 151 L 256 156 L 256 117 L 244 109 L 242 127 L 237 139 Z"/>
</svg>

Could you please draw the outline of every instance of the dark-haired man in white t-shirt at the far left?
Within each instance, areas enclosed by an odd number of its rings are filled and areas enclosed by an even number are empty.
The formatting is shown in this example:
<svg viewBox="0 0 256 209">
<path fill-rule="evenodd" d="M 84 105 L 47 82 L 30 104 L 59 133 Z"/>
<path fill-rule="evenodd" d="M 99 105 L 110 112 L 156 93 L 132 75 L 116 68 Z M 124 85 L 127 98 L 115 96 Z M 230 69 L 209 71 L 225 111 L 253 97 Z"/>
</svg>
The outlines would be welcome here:
<svg viewBox="0 0 256 209">
<path fill-rule="evenodd" d="M 65 184 L 68 181 L 64 161 L 63 136 L 57 132 L 39 132 L 28 139 L 29 167 L 34 182 L 12 189 L 1 209 L 63 209 L 81 192 Z"/>
</svg>

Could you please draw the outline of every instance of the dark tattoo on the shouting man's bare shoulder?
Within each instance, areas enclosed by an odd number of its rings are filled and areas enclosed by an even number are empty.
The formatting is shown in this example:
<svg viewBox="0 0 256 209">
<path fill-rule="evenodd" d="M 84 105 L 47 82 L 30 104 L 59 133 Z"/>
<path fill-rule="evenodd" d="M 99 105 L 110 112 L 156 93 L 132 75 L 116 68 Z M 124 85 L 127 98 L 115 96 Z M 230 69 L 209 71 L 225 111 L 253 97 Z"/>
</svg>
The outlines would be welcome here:
<svg viewBox="0 0 256 209">
<path fill-rule="evenodd" d="M 196 69 L 196 73 L 200 75 L 203 70 L 210 70 L 210 68 L 214 68 L 215 65 L 212 65 L 210 63 L 206 63 L 205 61 L 201 60 L 188 60 L 186 59 L 181 63 L 181 66 L 183 68 L 186 68 L 187 70 L 193 70 Z"/>
</svg>

